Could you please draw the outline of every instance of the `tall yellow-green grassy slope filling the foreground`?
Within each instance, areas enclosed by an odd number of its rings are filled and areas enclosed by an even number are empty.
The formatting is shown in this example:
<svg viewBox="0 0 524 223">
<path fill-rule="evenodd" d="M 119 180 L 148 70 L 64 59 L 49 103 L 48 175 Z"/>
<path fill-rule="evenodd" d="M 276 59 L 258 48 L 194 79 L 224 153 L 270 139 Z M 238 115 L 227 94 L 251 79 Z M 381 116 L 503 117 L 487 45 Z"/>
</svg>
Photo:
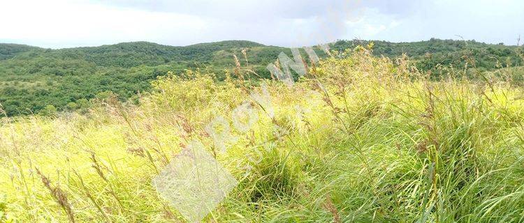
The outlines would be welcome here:
<svg viewBox="0 0 524 223">
<path fill-rule="evenodd" d="M 521 88 L 430 82 L 362 49 L 313 73 L 291 88 L 268 81 L 275 118 L 257 107 L 253 128 L 217 156 L 240 185 L 207 222 L 524 220 Z M 249 98 L 249 84 L 189 76 L 155 82 L 140 107 L 109 99 L 87 116 L 3 119 L 4 220 L 67 221 L 36 169 L 77 222 L 182 220 L 152 178 L 193 139 L 212 153 L 205 125 L 231 123 Z"/>
</svg>

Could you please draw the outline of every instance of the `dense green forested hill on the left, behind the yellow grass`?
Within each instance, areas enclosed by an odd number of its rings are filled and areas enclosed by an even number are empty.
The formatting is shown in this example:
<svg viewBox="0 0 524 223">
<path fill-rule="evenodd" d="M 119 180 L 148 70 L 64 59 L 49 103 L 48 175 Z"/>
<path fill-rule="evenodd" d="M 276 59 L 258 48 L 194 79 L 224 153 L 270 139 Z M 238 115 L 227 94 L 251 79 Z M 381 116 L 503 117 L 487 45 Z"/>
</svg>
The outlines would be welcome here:
<svg viewBox="0 0 524 223">
<path fill-rule="evenodd" d="M 168 71 L 201 68 L 222 73 L 233 68 L 233 53 L 240 56 L 244 47 L 252 51 L 253 63 L 266 65 L 279 52 L 289 51 L 249 41 L 186 47 L 134 42 L 68 49 L 0 44 L 0 103 L 13 116 L 36 113 L 48 105 L 75 109 L 107 92 L 125 100 L 149 90 L 150 81 Z"/>
</svg>

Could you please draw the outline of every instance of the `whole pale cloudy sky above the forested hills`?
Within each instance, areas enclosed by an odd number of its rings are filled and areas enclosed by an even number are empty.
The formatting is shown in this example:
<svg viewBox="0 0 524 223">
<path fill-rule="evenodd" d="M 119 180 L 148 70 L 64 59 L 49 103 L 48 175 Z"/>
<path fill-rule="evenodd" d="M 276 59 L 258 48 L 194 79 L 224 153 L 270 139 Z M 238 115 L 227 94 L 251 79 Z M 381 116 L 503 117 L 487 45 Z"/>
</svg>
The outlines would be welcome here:
<svg viewBox="0 0 524 223">
<path fill-rule="evenodd" d="M 46 48 L 131 41 L 334 40 L 524 42 L 523 0 L 0 0 L 0 43 Z"/>
</svg>

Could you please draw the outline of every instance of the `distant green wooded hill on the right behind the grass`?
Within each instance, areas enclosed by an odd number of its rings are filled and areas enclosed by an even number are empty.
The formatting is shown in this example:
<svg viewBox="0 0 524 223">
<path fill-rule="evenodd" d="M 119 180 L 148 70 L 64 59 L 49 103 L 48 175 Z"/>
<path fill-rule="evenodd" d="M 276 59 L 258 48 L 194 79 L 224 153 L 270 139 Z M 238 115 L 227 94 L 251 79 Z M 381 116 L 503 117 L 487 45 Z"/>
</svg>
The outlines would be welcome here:
<svg viewBox="0 0 524 223">
<path fill-rule="evenodd" d="M 356 45 L 367 45 L 371 41 L 340 40 L 331 45 L 332 49 L 344 50 Z M 494 45 L 479 43 L 475 40 L 439 40 L 432 38 L 428 41 L 412 43 L 390 43 L 386 41 L 372 41 L 373 53 L 377 56 L 396 58 L 406 54 L 416 62 L 416 68 L 437 72 L 437 65 L 453 66 L 463 69 L 478 68 L 480 70 L 494 70 L 507 66 L 522 66 L 523 48 L 506 46 L 502 43 Z"/>
</svg>

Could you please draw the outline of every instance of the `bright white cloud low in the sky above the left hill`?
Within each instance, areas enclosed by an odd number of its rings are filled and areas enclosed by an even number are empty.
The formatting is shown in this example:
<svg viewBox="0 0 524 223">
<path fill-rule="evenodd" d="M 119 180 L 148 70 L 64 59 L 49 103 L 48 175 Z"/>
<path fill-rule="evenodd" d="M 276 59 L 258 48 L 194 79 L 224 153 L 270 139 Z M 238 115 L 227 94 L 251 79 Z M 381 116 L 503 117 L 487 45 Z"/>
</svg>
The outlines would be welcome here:
<svg viewBox="0 0 524 223">
<path fill-rule="evenodd" d="M 0 39 L 45 47 L 93 45 L 122 41 L 175 40 L 189 43 L 209 29 L 193 15 L 114 8 L 71 1 L 10 1 L 0 13 Z M 23 10 L 20 10 L 23 9 Z"/>
</svg>

